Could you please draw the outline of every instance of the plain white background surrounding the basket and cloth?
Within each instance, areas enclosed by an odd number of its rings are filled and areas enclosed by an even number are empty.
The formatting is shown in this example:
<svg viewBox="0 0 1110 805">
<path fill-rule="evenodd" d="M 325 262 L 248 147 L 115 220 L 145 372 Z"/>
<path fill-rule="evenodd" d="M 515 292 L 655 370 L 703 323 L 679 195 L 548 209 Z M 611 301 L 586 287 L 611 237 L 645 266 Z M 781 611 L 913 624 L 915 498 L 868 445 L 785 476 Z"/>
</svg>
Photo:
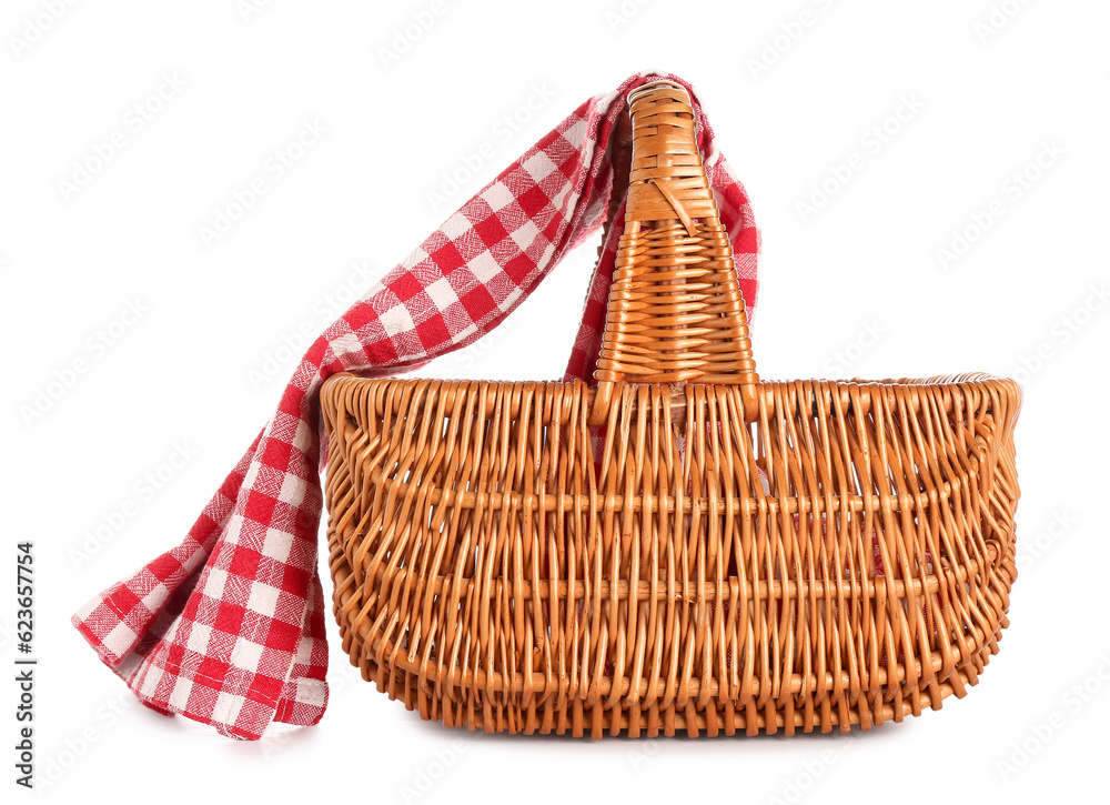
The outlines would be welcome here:
<svg viewBox="0 0 1110 805">
<path fill-rule="evenodd" d="M 932 803 L 1101 791 L 1110 7 L 442 2 L 433 13 L 411 0 L 9 0 L 0 12 L 3 562 L 36 541 L 47 798 Z M 406 29 L 414 14 L 426 30 Z M 425 724 L 359 681 L 329 618 L 333 694 L 316 727 L 234 743 L 135 705 L 69 616 L 181 540 L 275 406 L 295 363 L 283 336 L 322 330 L 345 306 L 336 300 L 366 285 L 352 265 L 376 279 L 573 108 L 646 68 L 695 84 L 751 197 L 764 376 L 985 370 L 1023 382 L 1021 572 L 982 683 L 849 741 L 487 737 Z M 158 109 L 147 120 L 135 104 Z M 205 243 L 201 228 L 252 179 L 273 178 L 266 159 L 306 121 L 326 133 Z M 117 132 L 107 163 L 75 175 Z M 493 155 L 476 164 L 483 143 Z M 455 172 L 458 187 L 445 187 Z M 827 200 L 799 207 L 823 184 Z M 945 258 L 958 232 L 975 242 Z M 555 271 L 487 343 L 426 373 L 559 376 L 592 254 Z M 121 320 L 128 303 L 145 310 Z M 118 321 L 132 322 L 122 338 L 90 349 Z M 78 359 L 85 371 L 59 392 Z M 46 390 L 57 399 L 36 407 Z M 159 472 L 152 490 L 143 479 Z M 13 598 L 6 581 L 9 670 Z M 13 784 L 16 688 L 2 690 L 11 802 L 29 795 Z M 417 791 L 423 773 L 436 779 Z"/>
</svg>

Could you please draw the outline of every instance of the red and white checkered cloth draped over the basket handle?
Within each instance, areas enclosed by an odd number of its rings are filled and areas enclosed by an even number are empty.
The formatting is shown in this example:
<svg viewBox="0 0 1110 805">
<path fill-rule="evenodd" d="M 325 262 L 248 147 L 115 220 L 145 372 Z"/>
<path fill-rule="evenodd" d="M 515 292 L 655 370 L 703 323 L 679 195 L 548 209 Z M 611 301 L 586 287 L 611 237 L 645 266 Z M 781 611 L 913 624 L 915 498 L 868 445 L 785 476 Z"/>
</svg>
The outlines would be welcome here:
<svg viewBox="0 0 1110 805">
<path fill-rule="evenodd" d="M 647 72 L 586 101 L 352 305 L 305 353 L 273 419 L 185 541 L 73 616 L 143 704 L 236 738 L 259 738 L 273 721 L 320 720 L 327 703 L 316 572 L 326 460 L 321 383 L 344 370 L 366 376 L 412 370 L 493 330 L 604 223 L 609 137 L 626 94 L 659 78 L 688 87 Z M 751 209 L 690 92 L 706 170 L 753 305 Z M 612 228 L 591 283 L 567 379 L 593 372 L 620 229 Z"/>
</svg>

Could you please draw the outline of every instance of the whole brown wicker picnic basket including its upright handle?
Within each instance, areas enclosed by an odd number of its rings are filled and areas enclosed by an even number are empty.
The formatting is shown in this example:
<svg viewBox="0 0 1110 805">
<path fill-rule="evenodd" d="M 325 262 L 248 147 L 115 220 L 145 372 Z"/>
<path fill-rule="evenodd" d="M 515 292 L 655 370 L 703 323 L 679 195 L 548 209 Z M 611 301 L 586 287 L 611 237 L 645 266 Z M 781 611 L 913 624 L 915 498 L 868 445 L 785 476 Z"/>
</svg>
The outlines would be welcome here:
<svg viewBox="0 0 1110 805">
<path fill-rule="evenodd" d="M 351 662 L 487 732 L 848 732 L 963 696 L 1017 575 L 1017 383 L 760 381 L 689 97 L 629 107 L 596 386 L 324 384 Z"/>
</svg>

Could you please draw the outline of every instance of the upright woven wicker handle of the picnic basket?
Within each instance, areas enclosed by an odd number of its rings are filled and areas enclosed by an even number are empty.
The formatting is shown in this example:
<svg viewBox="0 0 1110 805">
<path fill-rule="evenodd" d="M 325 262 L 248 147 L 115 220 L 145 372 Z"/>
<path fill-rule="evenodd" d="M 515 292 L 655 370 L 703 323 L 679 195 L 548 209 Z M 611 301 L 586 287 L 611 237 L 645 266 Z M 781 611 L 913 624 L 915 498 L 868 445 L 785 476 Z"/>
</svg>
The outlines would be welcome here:
<svg viewBox="0 0 1110 805">
<path fill-rule="evenodd" d="M 740 385 L 758 409 L 755 359 L 733 246 L 698 151 L 686 90 L 653 81 L 628 95 L 632 169 L 594 379 L 592 424 L 616 384 Z"/>
</svg>

